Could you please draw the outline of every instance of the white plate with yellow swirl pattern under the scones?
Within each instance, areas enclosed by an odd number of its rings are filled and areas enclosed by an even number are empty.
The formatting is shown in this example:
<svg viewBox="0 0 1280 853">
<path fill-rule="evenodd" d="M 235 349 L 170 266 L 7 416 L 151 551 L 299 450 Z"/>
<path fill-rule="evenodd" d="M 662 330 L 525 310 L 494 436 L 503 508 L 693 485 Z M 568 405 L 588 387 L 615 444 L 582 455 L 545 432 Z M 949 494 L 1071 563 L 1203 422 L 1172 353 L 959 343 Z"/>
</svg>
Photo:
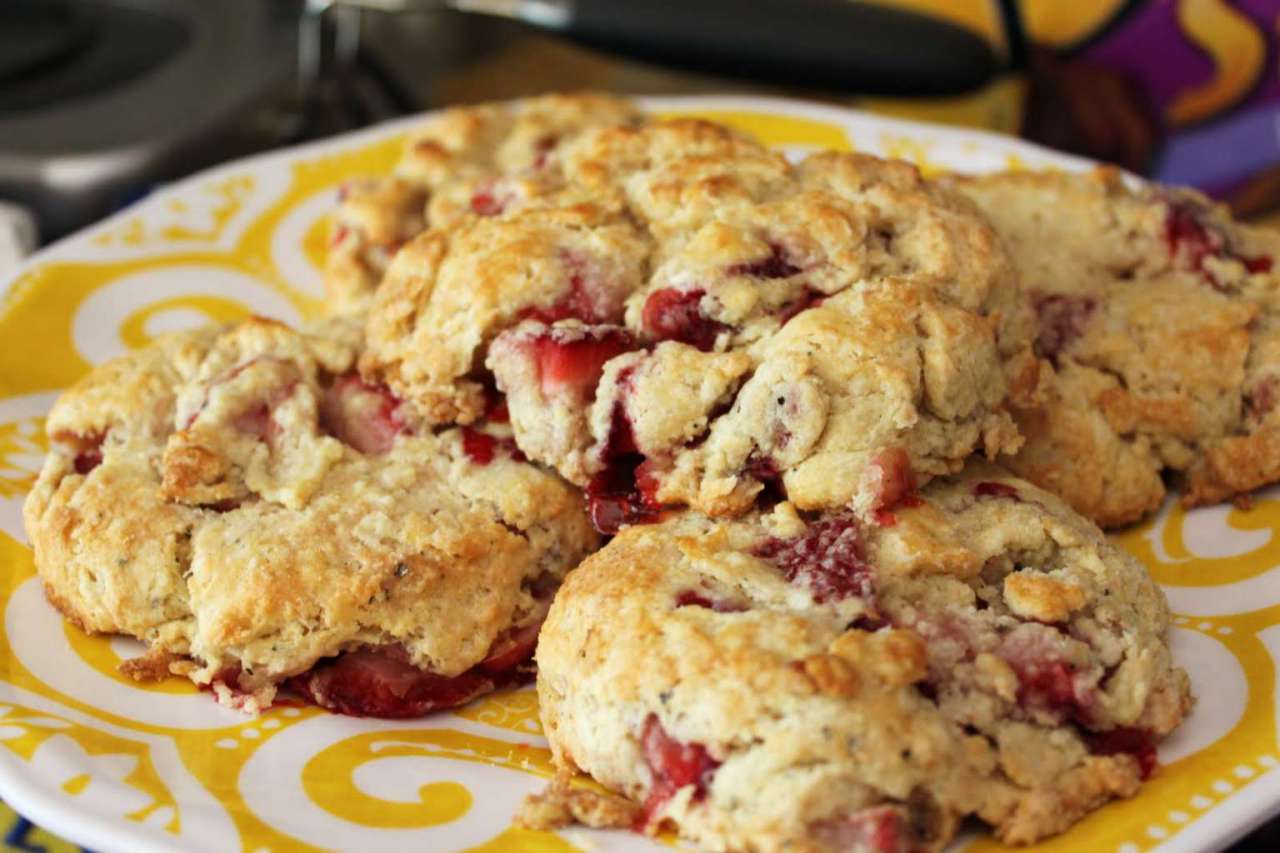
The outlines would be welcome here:
<svg viewBox="0 0 1280 853">
<path fill-rule="evenodd" d="M 783 101 L 657 108 L 727 122 L 788 152 L 856 147 L 931 170 L 1073 165 L 1016 141 Z M 125 848 L 562 853 L 584 838 L 648 844 L 509 826 L 520 799 L 552 772 L 531 689 L 406 722 L 306 707 L 243 717 L 186 681 L 122 678 L 127 643 L 86 637 L 42 601 L 19 511 L 47 447 L 42 416 L 56 391 L 174 328 L 255 313 L 312 315 L 337 187 L 387 172 L 403 133 L 376 129 L 180 183 L 64 242 L 0 295 L 0 792 L 49 829 Z M 1277 533 L 1274 493 L 1248 511 L 1169 507 L 1116 537 L 1166 587 L 1179 613 L 1175 653 L 1201 701 L 1138 797 L 1046 849 L 1212 844 L 1280 804 Z"/>
</svg>

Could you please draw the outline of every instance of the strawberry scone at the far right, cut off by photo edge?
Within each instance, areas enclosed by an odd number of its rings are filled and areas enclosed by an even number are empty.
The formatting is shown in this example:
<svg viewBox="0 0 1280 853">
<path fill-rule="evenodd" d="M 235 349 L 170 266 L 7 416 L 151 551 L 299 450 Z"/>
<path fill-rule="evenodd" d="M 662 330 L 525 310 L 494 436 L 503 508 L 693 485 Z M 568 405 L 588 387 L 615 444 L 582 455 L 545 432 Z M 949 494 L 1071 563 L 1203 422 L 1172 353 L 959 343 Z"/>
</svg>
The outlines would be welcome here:
<svg viewBox="0 0 1280 853">
<path fill-rule="evenodd" d="M 989 216 L 1053 364 L 1009 465 L 1103 526 L 1280 479 L 1280 236 L 1119 174 L 950 182 Z"/>
</svg>

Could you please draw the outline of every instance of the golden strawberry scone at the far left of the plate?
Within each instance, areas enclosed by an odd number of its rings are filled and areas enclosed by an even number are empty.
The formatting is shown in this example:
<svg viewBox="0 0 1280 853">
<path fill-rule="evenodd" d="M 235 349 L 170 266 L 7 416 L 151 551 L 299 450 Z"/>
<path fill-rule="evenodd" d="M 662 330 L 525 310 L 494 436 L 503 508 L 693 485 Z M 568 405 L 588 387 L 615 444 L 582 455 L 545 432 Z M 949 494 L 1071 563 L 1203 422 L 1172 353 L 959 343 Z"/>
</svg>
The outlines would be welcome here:
<svg viewBox="0 0 1280 853">
<path fill-rule="evenodd" d="M 410 716 L 527 678 L 596 544 L 575 489 L 494 428 L 433 434 L 353 373 L 358 328 L 179 333 L 64 393 L 24 506 L 49 599 L 250 710 L 288 683 Z"/>
</svg>

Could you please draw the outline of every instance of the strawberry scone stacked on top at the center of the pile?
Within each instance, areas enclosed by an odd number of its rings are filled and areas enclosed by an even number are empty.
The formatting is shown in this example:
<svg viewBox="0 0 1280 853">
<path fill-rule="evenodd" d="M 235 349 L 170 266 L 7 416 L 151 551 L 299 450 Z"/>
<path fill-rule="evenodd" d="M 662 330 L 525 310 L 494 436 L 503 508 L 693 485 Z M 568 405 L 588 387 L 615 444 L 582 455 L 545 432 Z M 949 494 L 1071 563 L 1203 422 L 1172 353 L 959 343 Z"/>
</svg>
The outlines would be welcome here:
<svg viewBox="0 0 1280 853">
<path fill-rule="evenodd" d="M 963 197 L 690 119 L 585 131 L 562 164 L 562 195 L 401 250 L 361 370 L 436 423 L 495 383 L 520 448 L 588 487 L 602 530 L 767 487 L 870 512 L 1016 448 L 1030 311 Z"/>
</svg>

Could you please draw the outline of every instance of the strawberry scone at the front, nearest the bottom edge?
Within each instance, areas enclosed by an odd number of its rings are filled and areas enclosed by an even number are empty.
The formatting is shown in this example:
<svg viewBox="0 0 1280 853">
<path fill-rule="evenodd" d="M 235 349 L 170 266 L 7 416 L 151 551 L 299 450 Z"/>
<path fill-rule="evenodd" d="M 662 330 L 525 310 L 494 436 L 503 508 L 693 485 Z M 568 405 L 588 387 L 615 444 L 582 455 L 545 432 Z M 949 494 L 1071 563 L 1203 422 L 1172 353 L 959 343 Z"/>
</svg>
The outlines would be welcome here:
<svg viewBox="0 0 1280 853">
<path fill-rule="evenodd" d="M 986 462 L 879 525 L 783 502 L 632 526 L 543 626 L 561 776 L 522 820 L 887 852 L 972 815 L 1036 841 L 1155 767 L 1190 706 L 1167 628 L 1133 557 Z"/>
</svg>

